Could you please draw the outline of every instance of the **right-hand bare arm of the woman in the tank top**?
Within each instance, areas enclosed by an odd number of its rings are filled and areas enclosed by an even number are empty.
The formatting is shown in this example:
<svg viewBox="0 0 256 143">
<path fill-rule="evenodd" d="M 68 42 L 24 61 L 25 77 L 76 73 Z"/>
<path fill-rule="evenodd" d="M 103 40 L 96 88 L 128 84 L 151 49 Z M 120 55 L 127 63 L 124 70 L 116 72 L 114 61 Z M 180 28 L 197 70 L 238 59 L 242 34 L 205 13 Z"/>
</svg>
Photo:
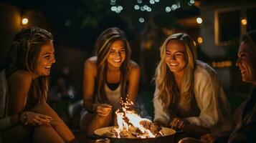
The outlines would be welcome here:
<svg viewBox="0 0 256 143">
<path fill-rule="evenodd" d="M 133 103 L 136 103 L 138 95 L 138 84 L 141 77 L 141 69 L 135 62 L 132 61 L 131 72 L 129 75 L 128 97 Z"/>
</svg>

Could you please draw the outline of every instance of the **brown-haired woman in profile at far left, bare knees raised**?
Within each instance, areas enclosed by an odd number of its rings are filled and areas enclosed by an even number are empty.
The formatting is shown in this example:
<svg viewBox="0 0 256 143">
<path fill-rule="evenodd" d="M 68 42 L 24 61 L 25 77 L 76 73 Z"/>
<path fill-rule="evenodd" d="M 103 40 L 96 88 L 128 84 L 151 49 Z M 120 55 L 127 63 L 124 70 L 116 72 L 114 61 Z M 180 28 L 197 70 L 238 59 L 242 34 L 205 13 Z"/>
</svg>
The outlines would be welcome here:
<svg viewBox="0 0 256 143">
<path fill-rule="evenodd" d="M 5 70 L 2 142 L 76 142 L 65 122 L 46 103 L 50 69 L 55 61 L 49 31 L 31 27 L 14 37 Z"/>
</svg>

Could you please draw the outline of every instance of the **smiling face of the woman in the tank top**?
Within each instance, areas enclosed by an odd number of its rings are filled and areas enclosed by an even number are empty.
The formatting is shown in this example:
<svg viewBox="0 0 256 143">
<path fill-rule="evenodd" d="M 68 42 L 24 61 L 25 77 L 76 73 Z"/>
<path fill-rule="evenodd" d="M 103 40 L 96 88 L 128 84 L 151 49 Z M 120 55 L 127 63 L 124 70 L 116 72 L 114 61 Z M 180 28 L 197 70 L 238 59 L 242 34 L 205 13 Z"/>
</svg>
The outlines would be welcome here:
<svg viewBox="0 0 256 143">
<path fill-rule="evenodd" d="M 123 40 L 116 40 L 110 45 L 107 61 L 109 68 L 119 68 L 123 64 L 123 61 L 125 61 L 125 44 Z"/>
</svg>

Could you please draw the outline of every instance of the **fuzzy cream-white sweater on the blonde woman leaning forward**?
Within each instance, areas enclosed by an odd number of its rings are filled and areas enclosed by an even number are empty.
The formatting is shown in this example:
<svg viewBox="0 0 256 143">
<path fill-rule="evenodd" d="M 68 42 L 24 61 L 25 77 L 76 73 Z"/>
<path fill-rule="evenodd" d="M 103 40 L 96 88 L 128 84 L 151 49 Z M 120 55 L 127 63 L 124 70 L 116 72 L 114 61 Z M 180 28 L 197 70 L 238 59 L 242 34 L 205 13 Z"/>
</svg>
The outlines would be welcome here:
<svg viewBox="0 0 256 143">
<path fill-rule="evenodd" d="M 164 112 L 162 100 L 156 98 L 157 94 L 156 87 L 153 99 L 154 121 L 167 126 L 171 122 L 172 115 L 169 112 Z M 219 84 L 217 73 L 202 61 L 196 61 L 194 96 L 201 112 L 198 117 L 186 118 L 190 124 L 209 128 L 212 132 L 229 132 L 232 129 L 229 102 Z"/>
</svg>

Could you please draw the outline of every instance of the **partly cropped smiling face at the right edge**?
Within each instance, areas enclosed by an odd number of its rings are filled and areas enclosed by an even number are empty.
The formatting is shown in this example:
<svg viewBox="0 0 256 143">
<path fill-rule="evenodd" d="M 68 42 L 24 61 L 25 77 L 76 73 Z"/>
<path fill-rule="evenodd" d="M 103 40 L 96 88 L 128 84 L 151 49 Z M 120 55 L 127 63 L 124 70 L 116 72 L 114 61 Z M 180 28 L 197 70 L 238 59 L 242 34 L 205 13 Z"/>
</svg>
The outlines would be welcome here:
<svg viewBox="0 0 256 143">
<path fill-rule="evenodd" d="M 236 65 L 239 67 L 243 82 L 256 84 L 256 56 L 250 44 L 242 41 Z"/>
</svg>

